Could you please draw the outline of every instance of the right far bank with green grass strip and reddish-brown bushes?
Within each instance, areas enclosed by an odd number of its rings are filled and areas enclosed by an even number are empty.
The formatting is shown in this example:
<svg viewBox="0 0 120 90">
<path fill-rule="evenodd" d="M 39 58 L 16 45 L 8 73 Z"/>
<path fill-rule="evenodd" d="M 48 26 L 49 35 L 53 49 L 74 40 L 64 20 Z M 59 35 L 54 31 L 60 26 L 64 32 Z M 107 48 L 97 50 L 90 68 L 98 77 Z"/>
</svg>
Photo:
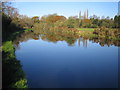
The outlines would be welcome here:
<svg viewBox="0 0 120 90">
<path fill-rule="evenodd" d="M 80 37 L 120 40 L 120 31 L 118 28 L 77 28 L 77 30 Z"/>
</svg>

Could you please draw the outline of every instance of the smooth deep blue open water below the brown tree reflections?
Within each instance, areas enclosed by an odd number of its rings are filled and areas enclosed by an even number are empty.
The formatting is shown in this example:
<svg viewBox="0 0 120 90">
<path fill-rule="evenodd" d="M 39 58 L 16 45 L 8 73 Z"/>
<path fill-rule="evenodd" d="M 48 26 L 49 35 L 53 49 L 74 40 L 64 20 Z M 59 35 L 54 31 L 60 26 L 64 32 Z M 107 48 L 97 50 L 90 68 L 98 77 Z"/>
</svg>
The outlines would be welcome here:
<svg viewBox="0 0 120 90">
<path fill-rule="evenodd" d="M 19 40 L 15 54 L 29 88 L 118 88 L 118 47 L 114 45 L 82 38 L 69 45 L 39 37 Z"/>
</svg>

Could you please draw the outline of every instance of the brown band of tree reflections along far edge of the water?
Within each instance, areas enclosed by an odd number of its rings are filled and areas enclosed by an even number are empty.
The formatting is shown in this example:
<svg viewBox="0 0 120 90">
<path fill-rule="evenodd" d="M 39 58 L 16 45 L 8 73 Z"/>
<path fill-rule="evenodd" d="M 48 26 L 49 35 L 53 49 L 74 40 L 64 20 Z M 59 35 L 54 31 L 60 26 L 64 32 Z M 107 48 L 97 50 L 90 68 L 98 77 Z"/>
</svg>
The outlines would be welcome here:
<svg viewBox="0 0 120 90">
<path fill-rule="evenodd" d="M 56 43 L 57 41 L 65 41 L 68 46 L 74 46 L 75 42 L 78 42 L 78 46 L 86 47 L 88 46 L 88 40 L 92 41 L 93 43 L 98 43 L 100 46 L 120 46 L 119 40 L 110 40 L 106 38 L 84 38 L 84 37 L 78 37 L 78 36 L 63 36 L 63 35 L 56 35 L 54 33 L 48 33 L 48 34 L 35 34 L 32 31 L 24 32 L 21 35 L 17 36 L 16 39 L 13 41 L 14 45 L 17 49 L 19 49 L 19 43 L 20 42 L 26 42 L 30 39 L 33 40 L 39 40 L 42 39 L 47 42 L 53 42 Z M 83 45 L 81 45 L 83 43 Z"/>
</svg>

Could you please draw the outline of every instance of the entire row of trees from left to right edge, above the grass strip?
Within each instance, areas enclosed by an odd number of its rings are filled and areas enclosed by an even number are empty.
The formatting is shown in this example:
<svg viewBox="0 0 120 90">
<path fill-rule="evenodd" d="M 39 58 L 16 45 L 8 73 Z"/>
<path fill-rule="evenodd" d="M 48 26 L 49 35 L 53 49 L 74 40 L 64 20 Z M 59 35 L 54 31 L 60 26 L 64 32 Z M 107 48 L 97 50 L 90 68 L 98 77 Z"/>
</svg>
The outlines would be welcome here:
<svg viewBox="0 0 120 90">
<path fill-rule="evenodd" d="M 99 19 L 93 15 L 90 19 L 79 19 L 77 16 L 66 18 L 57 14 L 42 16 L 34 16 L 32 18 L 20 15 L 18 10 L 9 3 L 2 3 L 2 35 L 3 41 L 11 35 L 11 33 L 23 29 L 42 29 L 51 28 L 120 28 L 120 15 L 114 18 Z M 38 28 L 38 29 L 37 29 Z M 65 29 L 67 30 L 67 29 Z"/>
</svg>

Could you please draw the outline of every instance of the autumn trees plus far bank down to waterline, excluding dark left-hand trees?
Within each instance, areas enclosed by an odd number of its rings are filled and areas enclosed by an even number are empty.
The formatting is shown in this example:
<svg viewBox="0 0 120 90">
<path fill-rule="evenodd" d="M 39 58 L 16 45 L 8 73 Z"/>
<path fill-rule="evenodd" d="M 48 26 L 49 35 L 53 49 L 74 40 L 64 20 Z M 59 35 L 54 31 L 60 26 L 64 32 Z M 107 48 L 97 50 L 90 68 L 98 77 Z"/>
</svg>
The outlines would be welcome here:
<svg viewBox="0 0 120 90">
<path fill-rule="evenodd" d="M 95 17 L 95 16 L 94 16 Z M 52 14 L 43 16 L 39 23 L 35 23 L 32 27 L 35 33 L 58 33 L 65 36 L 78 37 L 101 37 L 111 40 L 119 40 L 120 38 L 120 16 L 114 19 L 97 19 L 97 18 L 80 20 L 77 17 L 69 17 Z M 70 35 L 69 35 L 70 34 Z"/>
</svg>

